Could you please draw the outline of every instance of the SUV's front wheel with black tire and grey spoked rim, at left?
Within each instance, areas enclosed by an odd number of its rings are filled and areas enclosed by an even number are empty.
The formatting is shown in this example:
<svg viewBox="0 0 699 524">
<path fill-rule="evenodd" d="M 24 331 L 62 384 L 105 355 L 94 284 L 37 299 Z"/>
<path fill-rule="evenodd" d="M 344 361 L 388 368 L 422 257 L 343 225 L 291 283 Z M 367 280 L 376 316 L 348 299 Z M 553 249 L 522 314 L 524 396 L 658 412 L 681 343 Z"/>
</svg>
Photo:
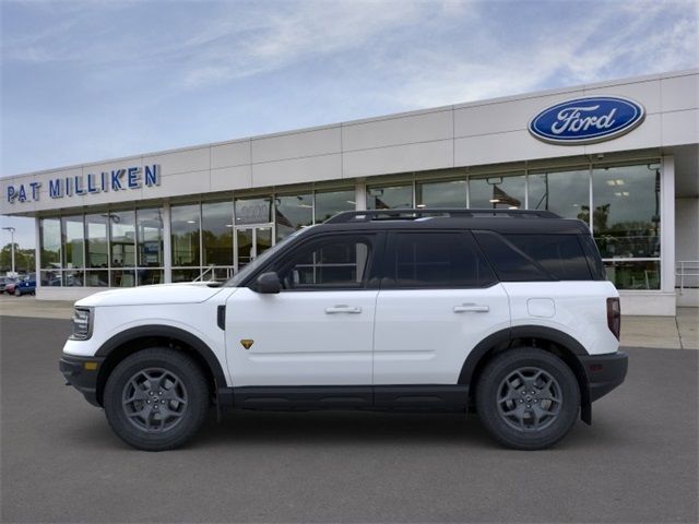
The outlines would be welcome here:
<svg viewBox="0 0 699 524">
<path fill-rule="evenodd" d="M 187 355 L 165 347 L 142 349 L 109 374 L 104 408 L 109 426 L 126 443 L 145 451 L 173 450 L 206 418 L 209 385 Z"/>
</svg>

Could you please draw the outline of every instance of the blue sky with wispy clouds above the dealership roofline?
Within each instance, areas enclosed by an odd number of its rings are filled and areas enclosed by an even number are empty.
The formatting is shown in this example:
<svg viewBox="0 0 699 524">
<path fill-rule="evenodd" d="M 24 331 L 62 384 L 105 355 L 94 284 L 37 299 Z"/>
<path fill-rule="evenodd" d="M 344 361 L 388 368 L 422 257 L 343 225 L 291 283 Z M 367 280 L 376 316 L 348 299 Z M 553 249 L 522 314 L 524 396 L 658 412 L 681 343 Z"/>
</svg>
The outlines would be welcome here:
<svg viewBox="0 0 699 524">
<path fill-rule="evenodd" d="M 2 177 L 699 67 L 699 0 L 0 0 L 0 16 Z M 32 219 L 1 219 L 34 246 Z"/>
</svg>

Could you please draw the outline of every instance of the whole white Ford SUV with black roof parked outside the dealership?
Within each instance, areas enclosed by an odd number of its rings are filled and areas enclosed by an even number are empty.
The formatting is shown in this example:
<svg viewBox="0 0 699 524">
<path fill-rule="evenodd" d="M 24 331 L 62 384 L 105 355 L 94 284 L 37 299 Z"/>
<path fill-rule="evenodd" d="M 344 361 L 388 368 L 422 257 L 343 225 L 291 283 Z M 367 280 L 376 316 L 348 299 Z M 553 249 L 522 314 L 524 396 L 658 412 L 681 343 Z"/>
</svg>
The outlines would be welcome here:
<svg viewBox="0 0 699 524">
<path fill-rule="evenodd" d="M 225 284 L 75 303 L 60 369 L 114 431 L 176 448 L 210 406 L 475 410 L 542 449 L 619 385 L 619 300 L 588 227 L 549 212 L 341 213 Z"/>
</svg>

